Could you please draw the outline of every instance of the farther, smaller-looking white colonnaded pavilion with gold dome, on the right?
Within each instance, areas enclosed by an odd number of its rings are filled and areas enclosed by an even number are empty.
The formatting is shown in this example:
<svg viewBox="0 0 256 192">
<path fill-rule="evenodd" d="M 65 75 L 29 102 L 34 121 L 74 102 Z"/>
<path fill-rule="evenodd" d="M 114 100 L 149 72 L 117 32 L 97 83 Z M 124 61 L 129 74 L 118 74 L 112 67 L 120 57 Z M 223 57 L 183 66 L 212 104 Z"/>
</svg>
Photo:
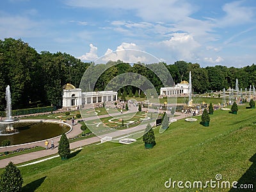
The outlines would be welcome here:
<svg viewBox="0 0 256 192">
<path fill-rule="evenodd" d="M 175 86 L 170 87 L 161 87 L 160 95 L 163 97 L 172 97 L 179 95 L 188 95 L 189 94 L 189 83 L 188 81 L 181 81 Z"/>
</svg>

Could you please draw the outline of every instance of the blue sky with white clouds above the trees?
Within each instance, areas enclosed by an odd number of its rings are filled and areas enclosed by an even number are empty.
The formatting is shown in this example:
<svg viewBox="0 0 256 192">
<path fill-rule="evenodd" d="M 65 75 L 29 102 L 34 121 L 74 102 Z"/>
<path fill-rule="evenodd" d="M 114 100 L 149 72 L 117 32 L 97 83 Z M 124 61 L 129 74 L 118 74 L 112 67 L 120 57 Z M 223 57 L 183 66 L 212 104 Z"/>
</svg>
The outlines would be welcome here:
<svg viewBox="0 0 256 192">
<path fill-rule="evenodd" d="M 0 38 L 8 37 L 83 61 L 137 49 L 167 64 L 244 67 L 256 63 L 256 1 L 3 0 Z"/>
</svg>

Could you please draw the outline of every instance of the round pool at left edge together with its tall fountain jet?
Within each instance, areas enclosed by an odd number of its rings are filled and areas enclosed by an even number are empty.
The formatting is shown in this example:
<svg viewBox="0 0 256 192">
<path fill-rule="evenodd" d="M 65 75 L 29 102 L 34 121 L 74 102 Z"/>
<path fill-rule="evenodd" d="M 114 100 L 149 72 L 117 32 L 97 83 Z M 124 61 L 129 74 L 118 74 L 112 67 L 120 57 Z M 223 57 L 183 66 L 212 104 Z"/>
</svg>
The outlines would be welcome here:
<svg viewBox="0 0 256 192">
<path fill-rule="evenodd" d="M 10 86 L 6 87 L 6 118 L 0 121 L 0 143 L 10 140 L 11 145 L 30 143 L 60 136 L 62 132 L 71 130 L 66 123 L 54 120 L 19 120 L 12 118 L 12 99 Z M 43 129 L 42 129 L 43 127 Z M 19 134 L 17 134 L 19 133 Z"/>
</svg>

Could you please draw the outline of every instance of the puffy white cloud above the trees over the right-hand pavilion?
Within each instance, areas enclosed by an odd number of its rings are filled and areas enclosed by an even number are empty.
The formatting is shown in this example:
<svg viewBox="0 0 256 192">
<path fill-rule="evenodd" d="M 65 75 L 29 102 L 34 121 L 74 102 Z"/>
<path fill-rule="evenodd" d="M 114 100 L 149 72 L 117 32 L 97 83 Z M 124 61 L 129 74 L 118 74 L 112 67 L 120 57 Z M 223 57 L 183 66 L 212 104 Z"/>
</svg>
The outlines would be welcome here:
<svg viewBox="0 0 256 192">
<path fill-rule="evenodd" d="M 188 61 L 196 59 L 196 51 L 200 47 L 200 44 L 188 33 L 173 33 L 170 40 L 160 42 L 160 45 L 163 49 L 168 49 L 177 60 Z"/>
</svg>

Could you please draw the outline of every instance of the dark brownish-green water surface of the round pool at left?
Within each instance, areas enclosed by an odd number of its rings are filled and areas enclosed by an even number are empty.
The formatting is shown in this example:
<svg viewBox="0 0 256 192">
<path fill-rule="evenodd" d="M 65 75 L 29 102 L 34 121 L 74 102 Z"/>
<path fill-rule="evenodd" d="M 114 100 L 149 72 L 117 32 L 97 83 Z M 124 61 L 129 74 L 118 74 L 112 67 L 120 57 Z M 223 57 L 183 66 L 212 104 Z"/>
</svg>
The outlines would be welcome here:
<svg viewBox="0 0 256 192">
<path fill-rule="evenodd" d="M 19 132 L 10 135 L 0 134 L 0 145 L 3 140 L 10 140 L 11 145 L 47 140 L 70 130 L 67 125 L 50 122 L 17 122 L 13 124 L 13 128 Z M 0 129 L 4 130 L 3 124 L 0 125 Z"/>
</svg>

